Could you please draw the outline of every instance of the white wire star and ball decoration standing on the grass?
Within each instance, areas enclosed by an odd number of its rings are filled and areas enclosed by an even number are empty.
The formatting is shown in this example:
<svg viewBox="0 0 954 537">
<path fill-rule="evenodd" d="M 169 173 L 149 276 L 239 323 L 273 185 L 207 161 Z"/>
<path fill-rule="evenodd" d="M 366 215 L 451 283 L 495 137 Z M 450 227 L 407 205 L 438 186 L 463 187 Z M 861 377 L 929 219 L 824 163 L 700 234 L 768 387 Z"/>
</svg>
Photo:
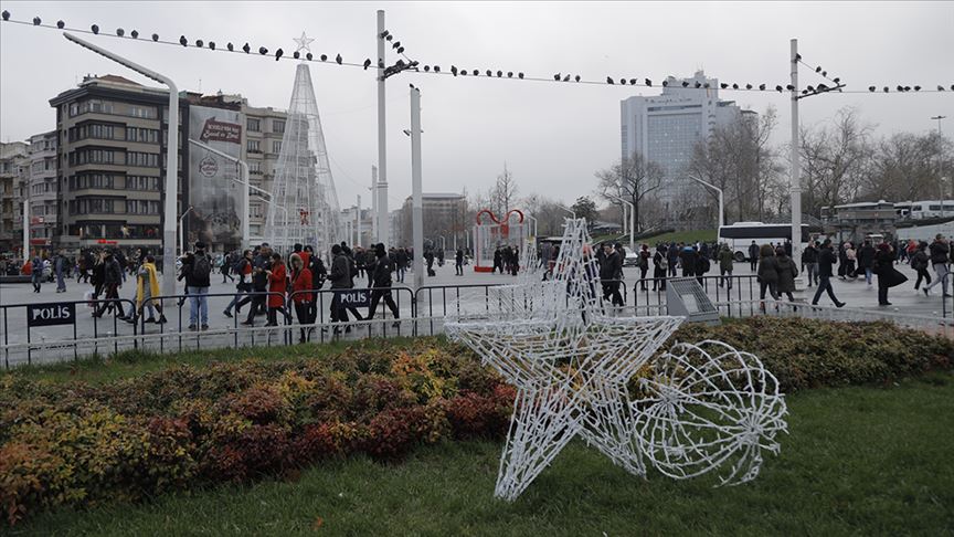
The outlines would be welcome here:
<svg viewBox="0 0 954 537">
<path fill-rule="evenodd" d="M 648 461 L 675 478 L 727 464 L 723 484 L 755 477 L 785 431 L 775 378 L 720 341 L 654 359 L 683 318 L 613 316 L 598 285 L 586 222 L 568 219 L 551 280 L 501 286 L 479 315 L 445 323 L 517 387 L 495 495 L 516 499 L 577 435 L 639 476 Z"/>
</svg>

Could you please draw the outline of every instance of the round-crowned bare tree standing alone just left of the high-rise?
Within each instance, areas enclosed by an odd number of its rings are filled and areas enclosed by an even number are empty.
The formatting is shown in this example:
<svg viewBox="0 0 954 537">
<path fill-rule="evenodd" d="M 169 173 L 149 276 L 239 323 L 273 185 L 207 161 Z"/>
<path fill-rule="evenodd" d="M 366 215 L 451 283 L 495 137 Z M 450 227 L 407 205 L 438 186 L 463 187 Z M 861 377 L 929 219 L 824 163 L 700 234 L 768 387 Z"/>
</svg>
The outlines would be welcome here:
<svg viewBox="0 0 954 537">
<path fill-rule="evenodd" d="M 612 168 L 597 171 L 596 178 L 600 182 L 596 188 L 600 196 L 611 203 L 618 203 L 613 197 L 633 203 L 638 232 L 643 230 L 644 220 L 639 212 L 640 204 L 649 193 L 661 186 L 664 175 L 658 164 L 647 161 L 643 154 L 634 151 L 633 156 L 621 159 Z"/>
</svg>

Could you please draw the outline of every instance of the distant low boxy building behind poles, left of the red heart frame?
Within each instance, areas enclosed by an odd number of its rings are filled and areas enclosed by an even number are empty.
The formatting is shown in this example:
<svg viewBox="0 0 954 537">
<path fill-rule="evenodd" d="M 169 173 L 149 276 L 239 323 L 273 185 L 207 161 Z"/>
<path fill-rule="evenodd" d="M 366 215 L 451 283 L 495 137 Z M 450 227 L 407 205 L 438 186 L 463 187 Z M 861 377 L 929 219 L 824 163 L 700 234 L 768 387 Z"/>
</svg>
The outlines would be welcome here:
<svg viewBox="0 0 954 537">
<path fill-rule="evenodd" d="M 431 241 L 437 248 L 453 248 L 454 244 L 466 242 L 467 198 L 458 193 L 423 193 L 422 220 L 424 221 L 424 240 Z M 412 214 L 413 201 L 409 196 L 401 208 L 401 236 L 405 243 L 413 240 Z M 442 239 L 443 238 L 443 239 Z"/>
</svg>

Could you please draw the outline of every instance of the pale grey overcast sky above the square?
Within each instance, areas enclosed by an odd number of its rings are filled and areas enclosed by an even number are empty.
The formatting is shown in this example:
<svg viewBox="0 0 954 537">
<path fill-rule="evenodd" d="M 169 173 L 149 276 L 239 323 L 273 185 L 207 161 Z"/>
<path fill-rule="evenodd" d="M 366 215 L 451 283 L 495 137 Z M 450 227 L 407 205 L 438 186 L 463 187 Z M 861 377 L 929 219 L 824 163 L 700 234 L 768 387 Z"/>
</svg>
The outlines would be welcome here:
<svg viewBox="0 0 954 537">
<path fill-rule="evenodd" d="M 698 69 L 721 82 L 785 85 L 789 39 L 809 64 L 840 76 L 848 90 L 869 85 L 954 84 L 954 2 L 19 2 L 0 1 L 14 19 L 104 33 L 159 33 L 163 39 L 227 41 L 253 49 L 283 48 L 314 36 L 315 55 L 361 62 L 375 56 L 375 11 L 421 64 L 556 72 L 589 80 L 691 76 Z M 255 106 L 287 108 L 296 62 L 88 36 L 132 61 L 171 76 L 180 90 L 241 93 Z M 390 62 L 396 56 L 390 53 Z M 87 73 L 148 81 L 68 43 L 56 30 L 0 24 L 0 139 L 21 140 L 55 127 L 47 101 Z M 362 194 L 377 164 L 377 87 L 373 71 L 312 64 L 311 76 L 340 204 Z M 802 70 L 802 85 L 823 82 Z M 519 193 L 565 202 L 592 194 L 594 171 L 619 158 L 619 101 L 658 88 L 499 81 L 404 73 L 388 87 L 388 173 L 392 208 L 411 191 L 409 88 L 422 90 L 425 191 L 488 189 L 504 162 Z M 789 101 L 774 92 L 721 92 L 759 112 L 778 108 L 776 144 L 788 136 Z M 924 133 L 929 118 L 948 116 L 954 92 L 828 94 L 802 102 L 802 124 L 828 120 L 855 106 L 879 135 Z"/>
</svg>

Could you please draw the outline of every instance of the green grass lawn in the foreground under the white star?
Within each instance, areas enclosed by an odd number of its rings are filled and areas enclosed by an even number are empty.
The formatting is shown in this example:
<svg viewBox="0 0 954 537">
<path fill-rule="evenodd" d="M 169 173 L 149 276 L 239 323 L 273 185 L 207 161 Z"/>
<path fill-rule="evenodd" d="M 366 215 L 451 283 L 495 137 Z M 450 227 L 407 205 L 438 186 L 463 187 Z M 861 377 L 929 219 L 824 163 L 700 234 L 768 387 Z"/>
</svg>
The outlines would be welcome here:
<svg viewBox="0 0 954 537">
<path fill-rule="evenodd" d="M 512 504 L 500 444 L 444 443 L 402 464 L 329 461 L 297 478 L 40 514 L 10 535 L 950 535 L 954 376 L 788 398 L 789 435 L 752 483 L 644 481 L 571 444 Z M 9 529 L 9 528 L 8 528 Z M 316 531 L 317 529 L 317 531 Z"/>
</svg>

